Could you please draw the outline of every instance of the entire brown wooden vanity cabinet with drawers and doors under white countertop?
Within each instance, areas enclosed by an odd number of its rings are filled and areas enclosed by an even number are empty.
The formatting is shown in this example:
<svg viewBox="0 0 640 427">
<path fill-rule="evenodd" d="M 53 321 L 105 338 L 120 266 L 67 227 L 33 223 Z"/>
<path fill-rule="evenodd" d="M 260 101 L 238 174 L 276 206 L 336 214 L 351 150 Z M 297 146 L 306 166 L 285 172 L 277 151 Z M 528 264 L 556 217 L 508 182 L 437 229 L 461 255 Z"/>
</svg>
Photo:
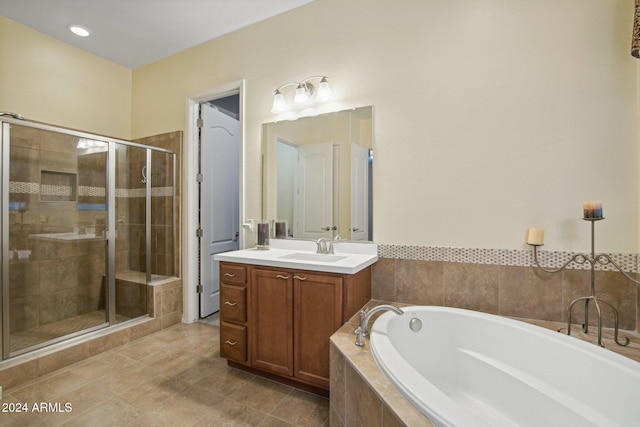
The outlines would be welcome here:
<svg viewBox="0 0 640 427">
<path fill-rule="evenodd" d="M 371 267 L 349 275 L 247 265 L 242 284 L 224 277 L 242 265 L 220 265 L 221 356 L 292 385 L 328 390 L 329 338 L 371 299 Z M 240 295 L 246 317 L 226 304 Z M 238 354 L 242 331 L 246 356 Z"/>
</svg>

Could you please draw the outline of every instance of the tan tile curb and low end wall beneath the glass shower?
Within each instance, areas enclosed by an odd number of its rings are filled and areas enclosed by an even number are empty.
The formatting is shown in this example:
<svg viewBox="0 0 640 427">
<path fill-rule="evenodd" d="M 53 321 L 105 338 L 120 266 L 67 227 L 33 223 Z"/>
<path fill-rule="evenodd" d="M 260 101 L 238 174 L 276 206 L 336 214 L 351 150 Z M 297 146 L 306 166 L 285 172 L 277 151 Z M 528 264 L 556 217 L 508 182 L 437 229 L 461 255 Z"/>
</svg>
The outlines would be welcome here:
<svg viewBox="0 0 640 427">
<path fill-rule="evenodd" d="M 57 369 L 109 351 L 180 323 L 182 280 L 166 279 L 148 286 L 149 317 L 93 332 L 51 348 L 36 350 L 0 363 L 0 385 L 16 387 Z"/>
</svg>

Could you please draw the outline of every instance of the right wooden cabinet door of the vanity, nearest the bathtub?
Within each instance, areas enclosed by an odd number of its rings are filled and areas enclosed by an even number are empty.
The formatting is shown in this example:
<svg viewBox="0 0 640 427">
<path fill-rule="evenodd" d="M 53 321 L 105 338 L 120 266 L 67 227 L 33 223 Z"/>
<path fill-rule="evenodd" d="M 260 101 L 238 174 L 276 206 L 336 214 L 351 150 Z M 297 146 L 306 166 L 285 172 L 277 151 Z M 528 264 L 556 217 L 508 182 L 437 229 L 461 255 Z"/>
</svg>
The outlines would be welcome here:
<svg viewBox="0 0 640 427">
<path fill-rule="evenodd" d="M 295 374 L 329 388 L 329 337 L 342 326 L 342 277 L 295 273 Z"/>
</svg>

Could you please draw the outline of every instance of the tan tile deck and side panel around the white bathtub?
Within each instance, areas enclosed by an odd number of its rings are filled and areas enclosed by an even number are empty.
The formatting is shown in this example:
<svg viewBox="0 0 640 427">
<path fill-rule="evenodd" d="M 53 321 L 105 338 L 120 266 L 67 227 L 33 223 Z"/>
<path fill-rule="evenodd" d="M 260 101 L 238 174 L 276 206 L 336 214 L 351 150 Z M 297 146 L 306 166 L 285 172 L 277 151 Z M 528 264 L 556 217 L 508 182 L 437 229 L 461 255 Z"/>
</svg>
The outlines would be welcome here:
<svg viewBox="0 0 640 427">
<path fill-rule="evenodd" d="M 406 304 L 384 301 L 370 301 L 366 306 L 392 304 L 402 307 Z M 380 314 L 374 315 L 377 317 Z M 551 330 L 557 330 L 563 324 L 549 321 L 523 320 Z M 372 319 L 371 325 L 375 320 Z M 331 385 L 330 385 L 330 425 L 334 427 L 370 427 L 395 426 L 433 426 L 395 386 L 385 377 L 376 364 L 369 339 L 365 339 L 364 347 L 354 344 L 354 329 L 358 325 L 358 315 L 342 326 L 331 337 Z M 592 328 L 589 335 L 583 334 L 580 328 L 572 336 L 591 343 L 597 340 Z M 612 331 L 603 331 L 604 344 L 607 349 L 640 362 L 640 334 L 625 333 L 631 343 L 628 347 L 620 347 L 613 343 Z"/>
</svg>

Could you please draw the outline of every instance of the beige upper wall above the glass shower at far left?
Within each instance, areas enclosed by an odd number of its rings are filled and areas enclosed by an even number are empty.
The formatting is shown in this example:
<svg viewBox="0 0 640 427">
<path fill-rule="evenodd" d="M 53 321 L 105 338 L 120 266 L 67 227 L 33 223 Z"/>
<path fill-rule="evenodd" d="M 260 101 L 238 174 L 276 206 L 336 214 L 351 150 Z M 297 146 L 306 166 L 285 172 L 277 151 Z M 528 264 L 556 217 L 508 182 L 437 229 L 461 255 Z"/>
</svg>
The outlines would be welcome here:
<svg viewBox="0 0 640 427">
<path fill-rule="evenodd" d="M 128 139 L 131 74 L 0 16 L 0 111 Z"/>
</svg>

